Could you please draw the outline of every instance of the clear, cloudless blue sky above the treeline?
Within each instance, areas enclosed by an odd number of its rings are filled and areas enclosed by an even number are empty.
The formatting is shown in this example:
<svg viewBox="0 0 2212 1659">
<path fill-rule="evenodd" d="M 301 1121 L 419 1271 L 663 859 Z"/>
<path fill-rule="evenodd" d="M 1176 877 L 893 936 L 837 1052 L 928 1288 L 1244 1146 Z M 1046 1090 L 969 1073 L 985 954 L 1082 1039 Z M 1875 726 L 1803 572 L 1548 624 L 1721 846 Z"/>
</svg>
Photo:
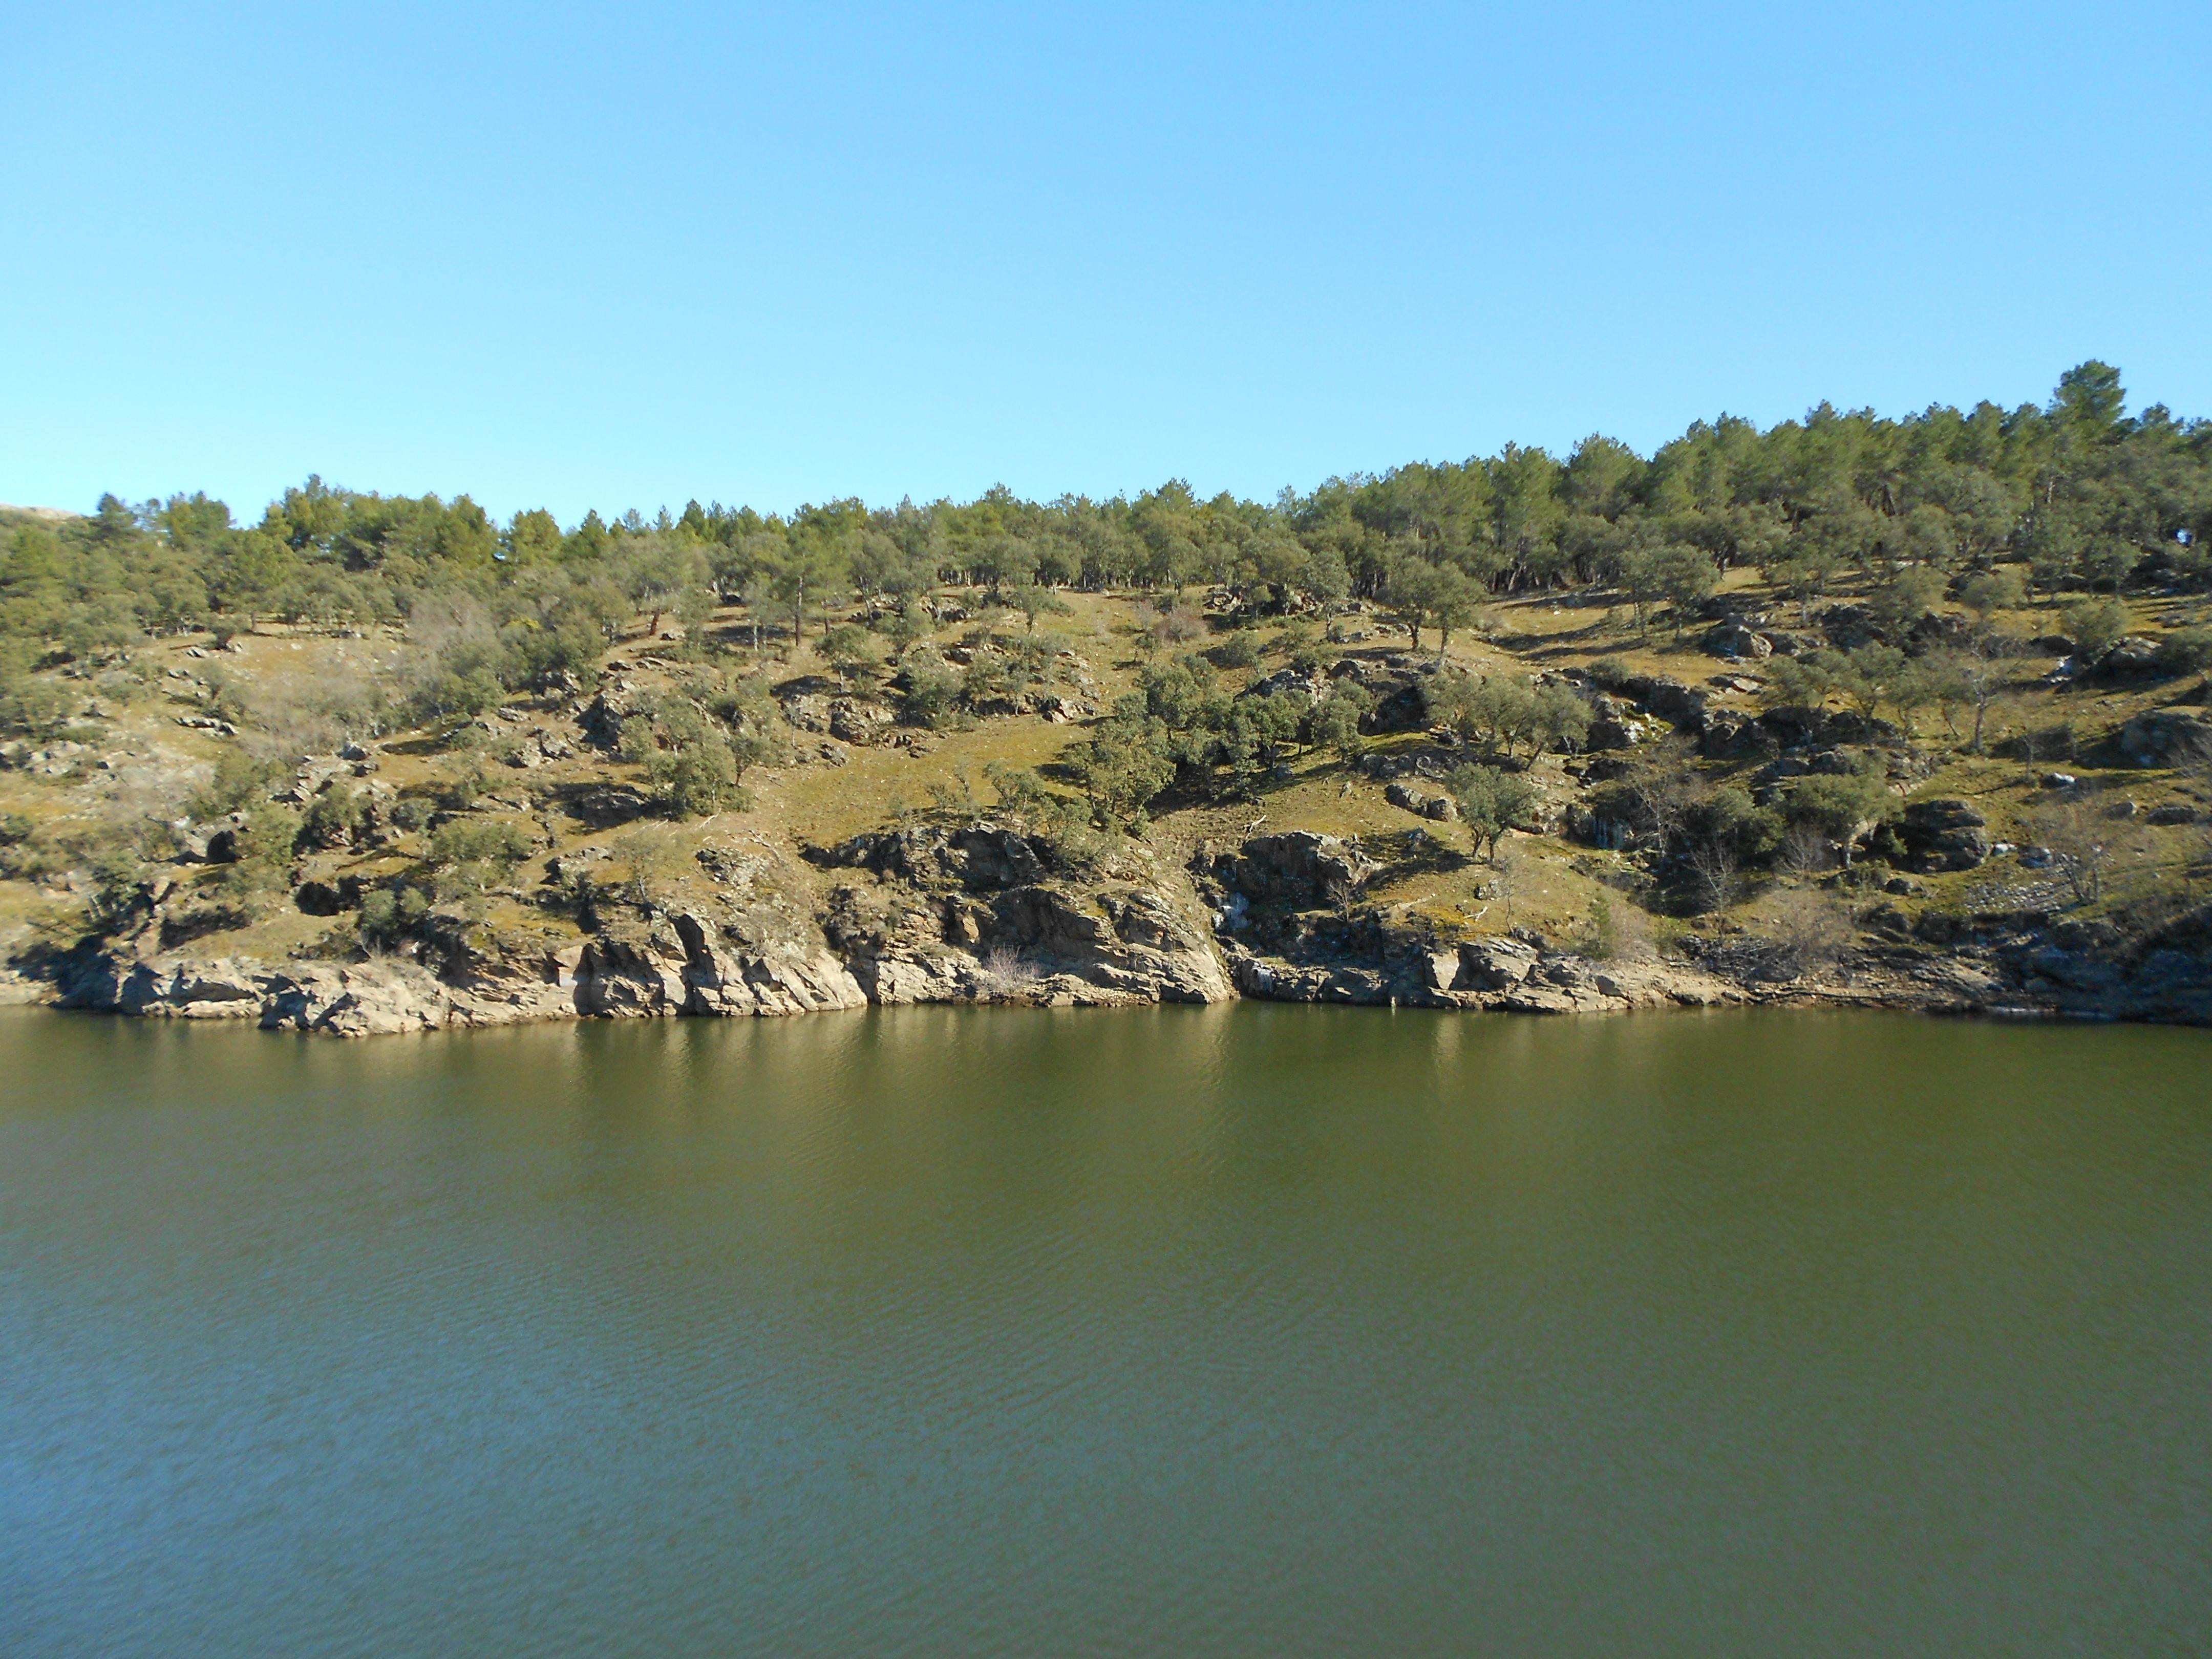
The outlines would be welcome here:
<svg viewBox="0 0 2212 1659">
<path fill-rule="evenodd" d="M 2212 414 L 2212 7 L 0 0 L 0 500 L 1272 495 Z"/>
</svg>

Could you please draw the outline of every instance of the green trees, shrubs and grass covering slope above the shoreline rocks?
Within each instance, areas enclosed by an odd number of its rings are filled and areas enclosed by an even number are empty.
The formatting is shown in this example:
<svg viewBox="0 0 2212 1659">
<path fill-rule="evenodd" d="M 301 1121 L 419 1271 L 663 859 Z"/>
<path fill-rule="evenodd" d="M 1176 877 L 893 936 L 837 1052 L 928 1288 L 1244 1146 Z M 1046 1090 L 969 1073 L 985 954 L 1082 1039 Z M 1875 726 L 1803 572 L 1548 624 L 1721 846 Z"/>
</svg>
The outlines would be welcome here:
<svg viewBox="0 0 2212 1659">
<path fill-rule="evenodd" d="M 2208 427 L 2130 418 L 2088 363 L 2039 409 L 1823 407 L 1272 504 L 502 526 L 307 480 L 254 524 L 0 515 L 0 922 L 281 956 L 325 938 L 292 894 L 363 949 L 458 949 L 456 907 L 571 940 L 646 925 L 708 834 L 987 818 L 1086 880 L 1338 836 L 1374 865 L 1332 889 L 1345 951 L 1608 956 L 1663 916 L 1681 960 L 1818 975 L 1874 896 L 1898 960 L 2022 905 L 2152 953 L 2212 878 L 2208 502 Z M 2013 909 L 1973 898 L 1993 858 Z"/>
</svg>

